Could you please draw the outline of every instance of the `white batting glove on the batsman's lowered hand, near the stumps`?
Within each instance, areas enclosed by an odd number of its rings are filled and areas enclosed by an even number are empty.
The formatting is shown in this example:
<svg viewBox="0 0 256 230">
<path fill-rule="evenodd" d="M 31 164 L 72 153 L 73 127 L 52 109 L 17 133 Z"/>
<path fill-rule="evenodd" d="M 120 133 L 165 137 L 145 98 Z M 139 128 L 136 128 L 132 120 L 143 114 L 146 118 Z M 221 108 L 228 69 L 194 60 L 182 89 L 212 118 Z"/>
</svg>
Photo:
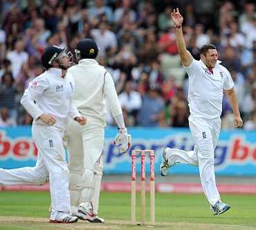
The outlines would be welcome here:
<svg viewBox="0 0 256 230">
<path fill-rule="evenodd" d="M 113 144 L 119 146 L 119 153 L 126 153 L 131 146 L 131 135 L 127 133 L 127 128 L 119 128 L 119 133 L 113 140 Z"/>
</svg>

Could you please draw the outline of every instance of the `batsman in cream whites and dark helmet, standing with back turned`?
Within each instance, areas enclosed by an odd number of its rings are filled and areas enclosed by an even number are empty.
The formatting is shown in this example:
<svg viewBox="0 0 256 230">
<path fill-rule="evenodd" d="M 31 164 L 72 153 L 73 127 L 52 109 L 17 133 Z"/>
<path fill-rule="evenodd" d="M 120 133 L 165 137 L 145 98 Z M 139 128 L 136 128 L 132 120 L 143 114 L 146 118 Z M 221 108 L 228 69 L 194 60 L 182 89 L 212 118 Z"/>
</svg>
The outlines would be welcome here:
<svg viewBox="0 0 256 230">
<path fill-rule="evenodd" d="M 78 42 L 75 55 L 79 63 L 68 69 L 75 81 L 73 102 L 82 115 L 86 126 L 79 126 L 68 119 L 67 141 L 71 171 L 71 209 L 81 220 L 104 222 L 98 217 L 100 183 L 102 179 L 102 151 L 106 115 L 105 99 L 118 124 L 119 132 L 114 143 L 120 153 L 128 151 L 131 136 L 127 133 L 122 109 L 111 75 L 98 64 L 98 46 L 92 39 Z"/>
</svg>

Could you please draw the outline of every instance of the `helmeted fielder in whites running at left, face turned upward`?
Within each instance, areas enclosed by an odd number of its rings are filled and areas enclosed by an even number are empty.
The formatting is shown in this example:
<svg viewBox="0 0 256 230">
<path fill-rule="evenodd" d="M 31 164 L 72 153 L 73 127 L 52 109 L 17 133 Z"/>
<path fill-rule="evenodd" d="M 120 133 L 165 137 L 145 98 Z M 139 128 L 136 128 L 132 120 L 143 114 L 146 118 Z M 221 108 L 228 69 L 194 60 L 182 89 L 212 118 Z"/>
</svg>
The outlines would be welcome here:
<svg viewBox="0 0 256 230">
<path fill-rule="evenodd" d="M 32 134 L 38 148 L 34 167 L 0 169 L 0 184 L 41 185 L 50 181 L 52 223 L 72 223 L 69 172 L 62 137 L 69 116 L 84 125 L 86 120 L 72 103 L 74 82 L 66 74 L 70 66 L 66 48 L 49 46 L 42 54 L 46 71 L 30 82 L 21 104 L 33 117 Z M 77 124 L 78 124 L 77 123 Z"/>
</svg>

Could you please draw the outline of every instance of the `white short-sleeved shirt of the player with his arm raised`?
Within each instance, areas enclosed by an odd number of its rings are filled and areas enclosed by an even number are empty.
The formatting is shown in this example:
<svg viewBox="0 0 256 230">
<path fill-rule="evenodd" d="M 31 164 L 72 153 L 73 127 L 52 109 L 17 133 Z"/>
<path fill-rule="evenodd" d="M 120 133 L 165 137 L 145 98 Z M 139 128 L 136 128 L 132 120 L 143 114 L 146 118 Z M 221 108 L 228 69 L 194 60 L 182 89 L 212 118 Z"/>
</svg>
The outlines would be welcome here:
<svg viewBox="0 0 256 230">
<path fill-rule="evenodd" d="M 188 106 L 192 117 L 219 119 L 222 111 L 223 89 L 233 88 L 234 82 L 228 70 L 217 61 L 213 74 L 203 61 L 193 59 L 185 67 L 189 76 Z"/>
</svg>

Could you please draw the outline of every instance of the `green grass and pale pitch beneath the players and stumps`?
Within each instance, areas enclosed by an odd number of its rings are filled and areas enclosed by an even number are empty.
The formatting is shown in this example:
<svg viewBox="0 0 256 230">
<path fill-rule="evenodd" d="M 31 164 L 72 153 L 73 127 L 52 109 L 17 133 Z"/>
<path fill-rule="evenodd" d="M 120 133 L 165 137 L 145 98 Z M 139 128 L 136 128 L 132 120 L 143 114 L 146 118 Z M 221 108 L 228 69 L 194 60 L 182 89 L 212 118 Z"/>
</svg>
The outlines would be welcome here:
<svg viewBox="0 0 256 230">
<path fill-rule="evenodd" d="M 214 216 L 203 194 L 156 193 L 156 226 L 132 226 L 129 193 L 102 193 L 100 216 L 106 224 L 48 224 L 48 192 L 0 192 L 0 229 L 256 229 L 255 195 L 222 195 L 231 204 L 227 213 Z M 138 202 L 139 204 L 139 194 Z M 149 197 L 147 197 L 149 204 Z M 149 207 L 149 205 L 147 205 Z M 137 205 L 137 218 L 139 218 Z M 149 209 L 147 209 L 149 220 Z"/>
</svg>

